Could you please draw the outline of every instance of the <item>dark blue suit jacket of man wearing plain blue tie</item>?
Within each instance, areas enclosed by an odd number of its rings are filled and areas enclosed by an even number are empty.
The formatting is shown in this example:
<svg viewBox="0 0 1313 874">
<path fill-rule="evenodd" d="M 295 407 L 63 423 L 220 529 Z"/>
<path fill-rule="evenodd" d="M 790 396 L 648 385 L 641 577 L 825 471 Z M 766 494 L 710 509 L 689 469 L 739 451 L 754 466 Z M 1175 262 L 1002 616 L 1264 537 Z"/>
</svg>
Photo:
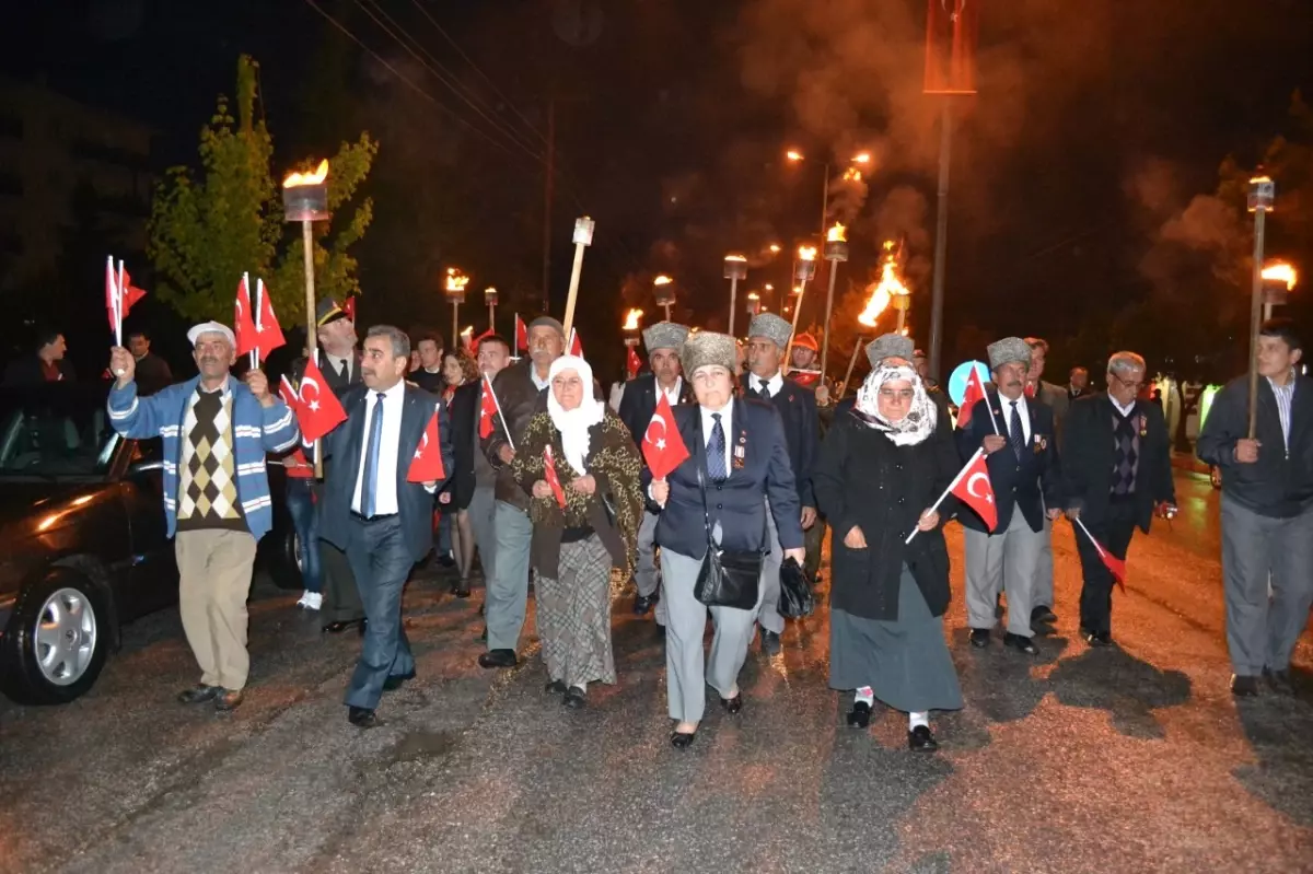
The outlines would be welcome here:
<svg viewBox="0 0 1313 874">
<path fill-rule="evenodd" d="M 351 518 L 351 501 L 356 495 L 360 454 L 365 450 L 365 419 L 368 415 L 365 400 L 368 394 L 369 388 L 364 385 L 352 386 L 343 394 L 341 406 L 347 411 L 347 421 L 337 425 L 332 433 L 324 437 L 323 442 L 324 457 L 332 458 L 334 465 L 324 470 L 319 537 L 340 550 L 347 549 L 351 526 L 358 524 Z M 428 425 L 433 409 L 439 411 L 437 433 L 441 444 L 442 470 L 450 479 L 456 472 L 456 455 L 452 451 L 452 420 L 446 415 L 446 404 L 419 386 L 407 382 L 395 475 L 397 509 L 400 513 L 406 551 L 412 562 L 423 560 L 433 547 L 433 493 L 425 489 L 421 483 L 406 482 L 411 458 L 424 437 L 424 428 Z M 441 488 L 442 483 L 439 483 L 437 491 Z"/>
</svg>

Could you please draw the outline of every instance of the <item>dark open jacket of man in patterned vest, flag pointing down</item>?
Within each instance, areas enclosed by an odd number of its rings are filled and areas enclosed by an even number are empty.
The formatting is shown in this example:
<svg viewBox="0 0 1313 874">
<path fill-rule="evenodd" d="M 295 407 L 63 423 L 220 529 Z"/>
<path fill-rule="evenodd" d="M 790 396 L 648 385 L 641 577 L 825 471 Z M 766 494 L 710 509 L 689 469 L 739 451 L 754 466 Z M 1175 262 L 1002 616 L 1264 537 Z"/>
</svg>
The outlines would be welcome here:
<svg viewBox="0 0 1313 874">
<path fill-rule="evenodd" d="M 1115 450 L 1112 415 L 1112 402 L 1100 392 L 1074 400 L 1062 424 L 1062 489 L 1067 507 L 1079 508 L 1082 517 L 1091 521 L 1103 520 L 1108 513 Z M 1162 407 L 1152 400 L 1137 400 L 1130 415 L 1144 423 L 1134 507 L 1136 525 L 1148 534 L 1154 505 L 1176 503 L 1171 442 Z"/>
</svg>

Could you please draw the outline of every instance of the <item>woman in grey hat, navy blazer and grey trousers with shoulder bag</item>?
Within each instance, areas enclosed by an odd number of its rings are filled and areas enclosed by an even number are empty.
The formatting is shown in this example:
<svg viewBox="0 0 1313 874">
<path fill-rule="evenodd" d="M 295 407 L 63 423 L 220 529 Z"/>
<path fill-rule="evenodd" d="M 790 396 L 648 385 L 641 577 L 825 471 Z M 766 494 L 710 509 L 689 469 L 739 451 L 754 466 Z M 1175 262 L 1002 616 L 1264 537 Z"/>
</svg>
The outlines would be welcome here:
<svg viewBox="0 0 1313 874">
<path fill-rule="evenodd" d="M 729 714 L 743 707 L 738 675 L 764 588 L 768 504 L 785 558 L 801 563 L 805 552 L 784 425 L 769 404 L 735 399 L 734 337 L 689 335 L 680 361 L 697 404 L 675 407 L 667 428 L 678 429 L 689 457 L 666 479 L 653 480 L 649 493 L 662 507 L 656 542 L 668 610 L 666 685 L 676 723 L 670 741 L 683 749 L 702 720 L 705 685 Z M 708 608 L 716 622 L 709 663 L 702 651 Z"/>
</svg>

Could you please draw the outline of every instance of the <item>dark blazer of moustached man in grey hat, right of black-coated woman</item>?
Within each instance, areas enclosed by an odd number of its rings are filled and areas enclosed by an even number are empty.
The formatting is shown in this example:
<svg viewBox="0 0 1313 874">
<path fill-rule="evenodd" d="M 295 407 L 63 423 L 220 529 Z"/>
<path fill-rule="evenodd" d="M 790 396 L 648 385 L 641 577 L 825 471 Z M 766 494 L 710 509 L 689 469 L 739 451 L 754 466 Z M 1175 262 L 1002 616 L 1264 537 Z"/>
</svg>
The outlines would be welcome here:
<svg viewBox="0 0 1313 874">
<path fill-rule="evenodd" d="M 970 423 L 965 429 L 957 432 L 957 447 L 964 463 L 985 444 L 985 438 L 994 433 L 990 408 L 998 420 L 999 433 L 1007 437 L 1008 416 L 1003 413 L 1004 407 L 1006 403 L 999 402 L 997 392 L 990 392 L 985 400 L 977 400 L 976 406 L 972 407 Z M 1044 530 L 1045 505 L 1054 509 L 1062 508 L 1053 409 L 1035 398 L 1025 399 L 1025 409 L 1031 419 L 1031 442 L 1022 453 L 1022 458 L 1018 459 L 1016 453 L 1008 445 L 985 459 L 985 465 L 989 467 L 989 482 L 994 487 L 999 533 L 1007 530 L 1007 525 L 1012 520 L 1014 507 L 1022 508 L 1022 516 L 1025 517 L 1032 531 Z M 974 510 L 960 513 L 957 521 L 976 531 L 989 530 Z"/>
</svg>

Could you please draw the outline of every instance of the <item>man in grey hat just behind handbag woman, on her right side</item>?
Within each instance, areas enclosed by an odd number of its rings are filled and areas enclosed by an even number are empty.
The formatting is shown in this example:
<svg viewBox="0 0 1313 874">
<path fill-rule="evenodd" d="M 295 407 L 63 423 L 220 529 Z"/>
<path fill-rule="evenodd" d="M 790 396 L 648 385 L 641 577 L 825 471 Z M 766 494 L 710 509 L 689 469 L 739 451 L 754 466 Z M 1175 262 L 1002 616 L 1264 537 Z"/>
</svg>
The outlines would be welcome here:
<svg viewBox="0 0 1313 874">
<path fill-rule="evenodd" d="M 821 420 L 817 416 L 815 395 L 780 371 L 780 362 L 789 345 L 793 325 L 773 312 L 762 312 L 752 316 L 747 333 L 748 374 L 742 381 L 743 391 L 746 396 L 769 402 L 780 411 L 780 419 L 784 421 L 784 437 L 789 449 L 789 465 L 793 468 L 794 487 L 802 508 L 800 521 L 802 529 L 810 531 L 817 526 L 817 501 L 811 492 L 811 465 L 821 440 Z M 767 518 L 771 518 L 769 513 L 767 513 Z M 817 528 L 815 534 L 809 537 L 809 551 L 821 550 L 819 534 L 821 530 Z M 762 597 L 758 622 L 762 626 L 762 650 L 768 655 L 775 655 L 780 651 L 780 633 L 784 631 L 784 618 L 779 612 L 779 568 L 784 559 L 784 550 L 780 547 L 773 524 L 771 543 L 771 555 L 767 556 L 765 593 Z"/>
</svg>

